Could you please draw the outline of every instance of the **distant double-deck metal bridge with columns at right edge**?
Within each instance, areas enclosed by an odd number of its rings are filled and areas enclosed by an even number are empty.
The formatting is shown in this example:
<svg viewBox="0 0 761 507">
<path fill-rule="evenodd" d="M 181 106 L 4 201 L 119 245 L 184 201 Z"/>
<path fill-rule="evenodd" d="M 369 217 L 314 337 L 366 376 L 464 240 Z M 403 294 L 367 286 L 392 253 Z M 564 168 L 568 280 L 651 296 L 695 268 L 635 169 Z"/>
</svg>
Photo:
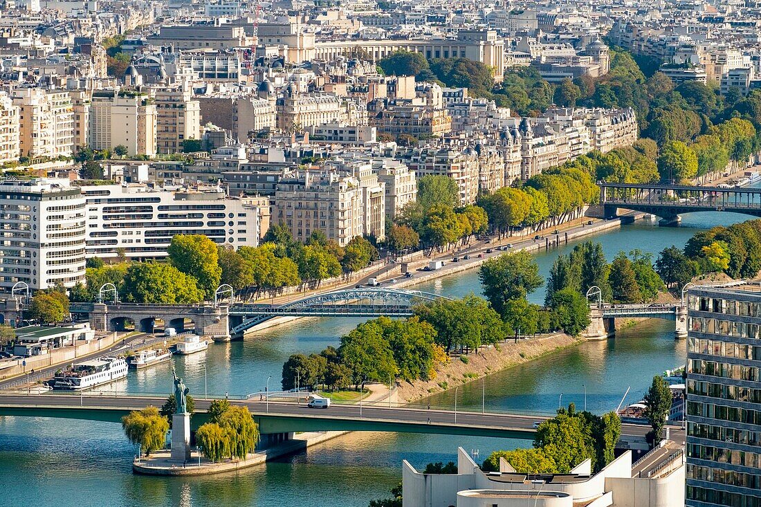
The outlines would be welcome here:
<svg viewBox="0 0 761 507">
<path fill-rule="evenodd" d="M 597 183 L 606 218 L 616 209 L 650 213 L 673 222 L 683 213 L 733 212 L 761 216 L 761 189 Z"/>
</svg>

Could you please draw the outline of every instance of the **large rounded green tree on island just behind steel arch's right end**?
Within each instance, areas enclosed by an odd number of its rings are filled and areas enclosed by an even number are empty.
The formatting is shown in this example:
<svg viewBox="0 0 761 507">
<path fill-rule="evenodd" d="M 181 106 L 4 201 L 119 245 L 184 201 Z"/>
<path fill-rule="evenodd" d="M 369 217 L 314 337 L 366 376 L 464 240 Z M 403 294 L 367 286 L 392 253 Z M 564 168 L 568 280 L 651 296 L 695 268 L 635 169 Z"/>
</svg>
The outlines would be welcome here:
<svg viewBox="0 0 761 507">
<path fill-rule="evenodd" d="M 507 301 L 525 298 L 544 282 L 539 275 L 539 266 L 526 251 L 487 260 L 479 269 L 479 279 L 486 299 L 505 318 Z"/>
</svg>

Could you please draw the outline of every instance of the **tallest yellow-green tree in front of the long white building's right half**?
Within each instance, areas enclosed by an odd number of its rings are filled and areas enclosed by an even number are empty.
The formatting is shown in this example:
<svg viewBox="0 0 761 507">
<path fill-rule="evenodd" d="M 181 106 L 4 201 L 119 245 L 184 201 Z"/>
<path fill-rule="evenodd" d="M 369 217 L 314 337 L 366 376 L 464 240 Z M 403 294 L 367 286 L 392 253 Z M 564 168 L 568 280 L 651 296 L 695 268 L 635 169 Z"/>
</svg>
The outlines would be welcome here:
<svg viewBox="0 0 761 507">
<path fill-rule="evenodd" d="M 167 253 L 173 266 L 198 281 L 205 298 L 213 298 L 222 276 L 214 241 L 203 234 L 175 234 Z"/>
</svg>

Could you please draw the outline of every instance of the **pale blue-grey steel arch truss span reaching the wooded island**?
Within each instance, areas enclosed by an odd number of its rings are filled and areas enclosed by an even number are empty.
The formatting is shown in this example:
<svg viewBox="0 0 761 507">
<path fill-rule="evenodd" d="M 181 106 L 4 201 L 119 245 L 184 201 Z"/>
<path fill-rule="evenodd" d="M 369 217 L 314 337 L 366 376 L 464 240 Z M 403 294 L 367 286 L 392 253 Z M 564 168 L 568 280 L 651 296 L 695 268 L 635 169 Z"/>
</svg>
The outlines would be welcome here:
<svg viewBox="0 0 761 507">
<path fill-rule="evenodd" d="M 274 317 L 410 317 L 413 305 L 435 299 L 447 298 L 430 292 L 367 287 L 325 292 L 284 305 L 232 305 L 230 333 L 240 335 Z M 239 324 L 232 324 L 236 320 Z"/>
</svg>

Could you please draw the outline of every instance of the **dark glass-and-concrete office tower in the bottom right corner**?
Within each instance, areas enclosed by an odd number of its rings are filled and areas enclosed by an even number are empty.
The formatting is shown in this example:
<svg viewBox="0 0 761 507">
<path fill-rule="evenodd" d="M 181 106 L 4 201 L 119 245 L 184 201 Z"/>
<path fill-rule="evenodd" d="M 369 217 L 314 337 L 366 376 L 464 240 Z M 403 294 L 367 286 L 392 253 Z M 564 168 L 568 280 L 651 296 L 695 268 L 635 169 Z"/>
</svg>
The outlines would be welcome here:
<svg viewBox="0 0 761 507">
<path fill-rule="evenodd" d="M 761 505 L 761 284 L 689 290 L 686 505 Z"/>
</svg>

